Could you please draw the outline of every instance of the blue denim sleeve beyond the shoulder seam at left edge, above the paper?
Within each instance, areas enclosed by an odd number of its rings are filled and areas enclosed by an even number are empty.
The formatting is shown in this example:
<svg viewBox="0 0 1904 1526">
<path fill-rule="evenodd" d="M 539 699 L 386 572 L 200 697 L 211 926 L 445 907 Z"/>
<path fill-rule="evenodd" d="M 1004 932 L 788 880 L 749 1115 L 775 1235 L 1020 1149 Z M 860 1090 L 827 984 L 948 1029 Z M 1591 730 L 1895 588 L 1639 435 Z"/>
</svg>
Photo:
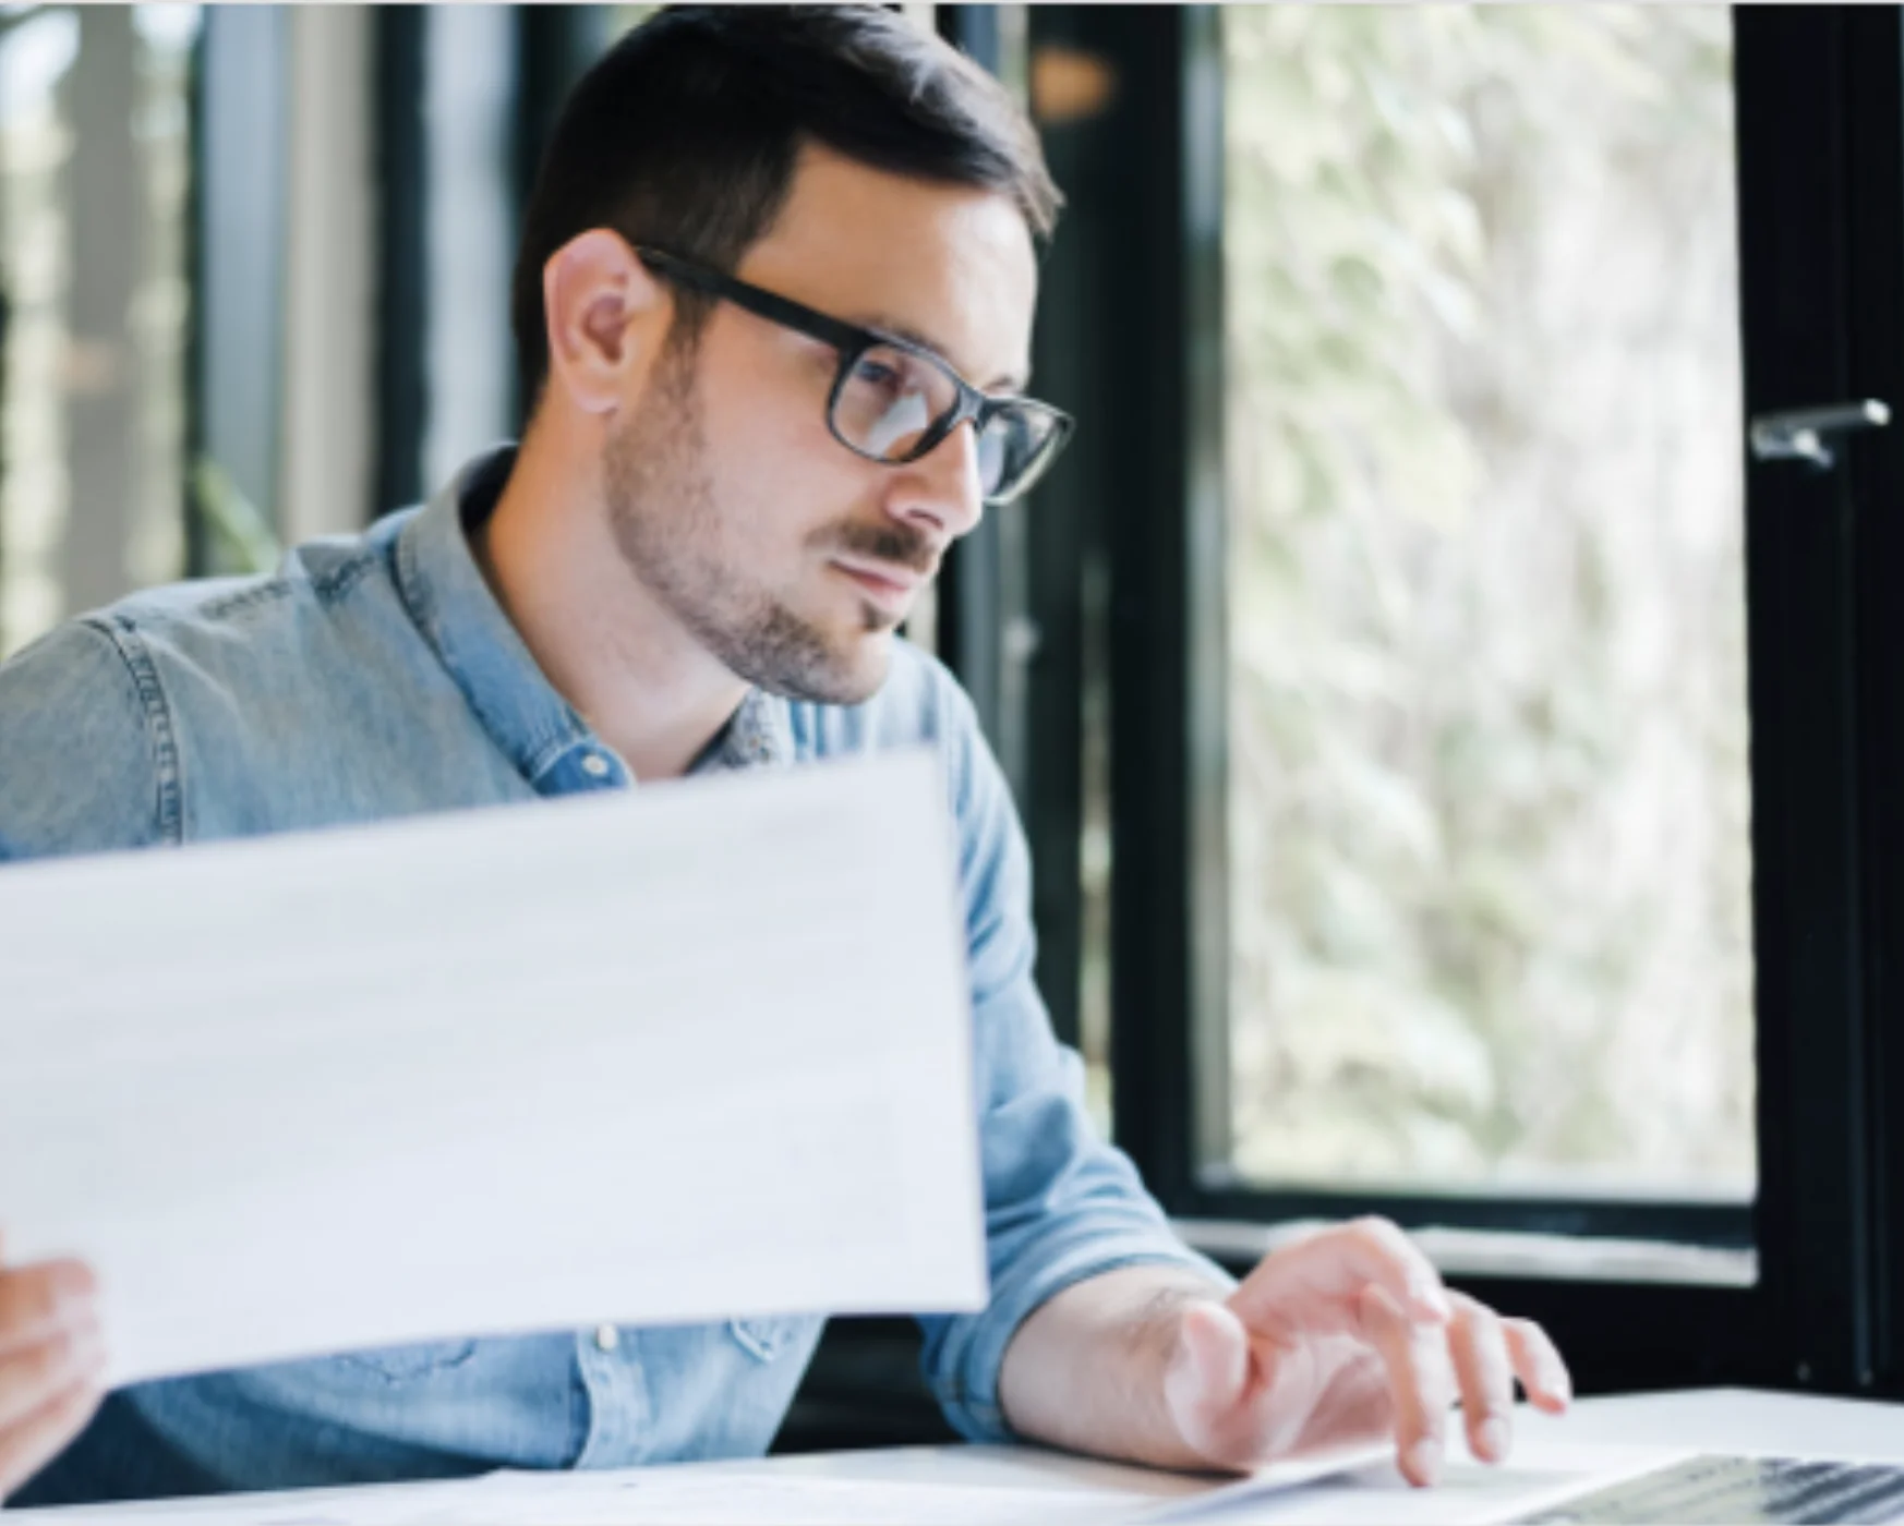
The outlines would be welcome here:
<svg viewBox="0 0 1904 1526">
<path fill-rule="evenodd" d="M 168 734 L 129 632 L 69 620 L 0 664 L 0 864 L 177 841 Z"/>
</svg>

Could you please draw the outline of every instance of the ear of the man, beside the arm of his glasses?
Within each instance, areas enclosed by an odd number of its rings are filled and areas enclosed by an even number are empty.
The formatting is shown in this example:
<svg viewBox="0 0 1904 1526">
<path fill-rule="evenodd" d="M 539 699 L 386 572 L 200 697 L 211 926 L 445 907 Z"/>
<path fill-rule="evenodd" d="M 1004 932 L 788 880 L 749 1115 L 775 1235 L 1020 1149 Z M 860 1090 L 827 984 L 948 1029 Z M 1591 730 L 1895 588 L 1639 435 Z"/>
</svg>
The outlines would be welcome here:
<svg viewBox="0 0 1904 1526">
<path fill-rule="evenodd" d="M 577 234 L 543 264 L 548 386 L 585 413 L 613 413 L 653 362 L 670 312 L 668 291 L 619 234 Z"/>
</svg>

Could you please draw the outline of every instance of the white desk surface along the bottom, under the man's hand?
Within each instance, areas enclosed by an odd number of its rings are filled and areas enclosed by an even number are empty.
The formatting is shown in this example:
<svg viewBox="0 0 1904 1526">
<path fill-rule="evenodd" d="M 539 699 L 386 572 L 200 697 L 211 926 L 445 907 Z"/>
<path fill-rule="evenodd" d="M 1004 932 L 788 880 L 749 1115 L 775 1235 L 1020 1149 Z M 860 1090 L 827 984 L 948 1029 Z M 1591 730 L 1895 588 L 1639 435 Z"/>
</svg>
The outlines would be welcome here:
<svg viewBox="0 0 1904 1526">
<path fill-rule="evenodd" d="M 1603 1471 L 1639 1471 L 1672 1454 L 1735 1452 L 1904 1463 L 1904 1404 L 1881 1404 L 1746 1389 L 1584 1399 L 1565 1418 L 1521 1406 L 1516 1446 L 1506 1469 L 1474 1467 L 1451 1423 L 1451 1465 L 1438 1490 L 1409 1490 L 1392 1467 L 1333 1484 L 1236 1503 L 1211 1520 L 1340 1522 L 1382 1520 L 1420 1526 L 1457 1520 L 1500 1520 L 1529 1488 Z M 638 1477 L 647 1482 L 636 1486 Z M 605 1490 L 628 1478 L 615 1505 Z M 659 1486 L 659 1488 L 653 1488 Z M 729 1520 L 724 1507 L 750 1522 L 895 1520 L 918 1509 L 918 1520 L 1047 1522 L 1110 1520 L 1236 1486 L 1101 1463 L 1030 1446 L 902 1446 L 864 1452 L 815 1452 L 725 1463 L 682 1463 L 628 1475 L 493 1475 L 449 1486 L 402 1484 L 360 1490 L 301 1490 L 276 1496 L 150 1501 L 109 1511 L 23 1513 L 23 1522 L 69 1526 L 76 1520 L 270 1522 L 272 1526 L 381 1526 L 417 1520 Z M 472 1490 L 463 1494 L 461 1490 Z M 969 1492 L 969 1494 L 963 1494 Z M 421 1509 L 428 1496 L 428 1509 Z M 963 1496 L 963 1497 L 962 1497 Z M 967 1507 L 963 1499 L 973 1503 Z M 1205 1499 L 1215 1505 L 1215 1499 Z M 1036 1507 L 1036 1509 L 1032 1509 Z M 1017 1515 L 1015 1511 L 1030 1511 Z"/>
</svg>

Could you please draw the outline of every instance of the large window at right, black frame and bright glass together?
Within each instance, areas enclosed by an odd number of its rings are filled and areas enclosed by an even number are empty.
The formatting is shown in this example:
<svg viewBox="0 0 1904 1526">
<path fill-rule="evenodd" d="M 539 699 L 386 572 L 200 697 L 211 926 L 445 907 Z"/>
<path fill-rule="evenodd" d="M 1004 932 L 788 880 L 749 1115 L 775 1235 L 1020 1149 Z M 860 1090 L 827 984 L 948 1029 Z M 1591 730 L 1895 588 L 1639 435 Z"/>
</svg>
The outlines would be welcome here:
<svg viewBox="0 0 1904 1526">
<path fill-rule="evenodd" d="M 1384 1212 L 1588 1389 L 1904 1379 L 1904 432 L 1778 443 L 1904 403 L 1900 57 L 1032 8 L 1040 978 L 1236 1265 Z"/>
</svg>

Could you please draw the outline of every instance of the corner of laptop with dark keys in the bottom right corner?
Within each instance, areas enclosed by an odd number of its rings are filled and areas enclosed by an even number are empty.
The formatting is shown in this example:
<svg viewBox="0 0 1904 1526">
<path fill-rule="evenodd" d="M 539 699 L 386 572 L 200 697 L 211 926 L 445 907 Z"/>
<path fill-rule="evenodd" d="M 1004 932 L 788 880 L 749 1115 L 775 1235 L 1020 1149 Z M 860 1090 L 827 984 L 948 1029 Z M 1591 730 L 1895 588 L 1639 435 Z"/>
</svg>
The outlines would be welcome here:
<svg viewBox="0 0 1904 1526">
<path fill-rule="evenodd" d="M 1904 1467 L 1795 1458 L 1689 1458 L 1538 1515 L 1517 1516 L 1517 1526 L 1615 1526 L 1639 1520 L 1683 1526 L 1904 1522 Z"/>
</svg>

